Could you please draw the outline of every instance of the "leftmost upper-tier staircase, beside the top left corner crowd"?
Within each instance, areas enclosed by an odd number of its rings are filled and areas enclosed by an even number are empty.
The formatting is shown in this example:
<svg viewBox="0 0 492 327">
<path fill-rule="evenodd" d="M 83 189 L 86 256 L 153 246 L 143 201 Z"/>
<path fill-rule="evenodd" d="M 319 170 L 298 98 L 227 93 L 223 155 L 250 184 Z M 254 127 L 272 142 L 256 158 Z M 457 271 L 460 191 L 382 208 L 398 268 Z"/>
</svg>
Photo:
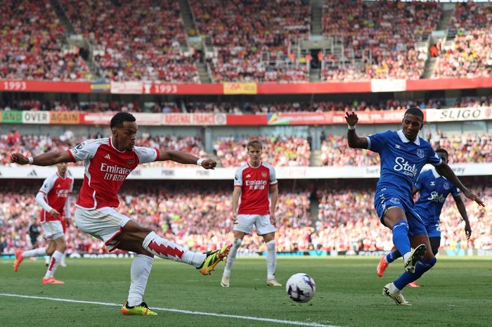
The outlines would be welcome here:
<svg viewBox="0 0 492 327">
<path fill-rule="evenodd" d="M 50 0 L 51 6 L 55 9 L 56 16 L 65 27 L 65 40 L 62 40 L 65 44 L 70 44 L 72 46 L 78 46 L 80 49 L 80 56 L 87 64 L 87 68 L 91 72 L 93 77 L 101 77 L 99 74 L 99 68 L 96 65 L 96 61 L 93 58 L 93 47 L 89 41 L 87 41 L 82 35 L 76 34 L 75 29 L 68 20 L 63 6 L 60 5 L 58 0 Z"/>
</svg>

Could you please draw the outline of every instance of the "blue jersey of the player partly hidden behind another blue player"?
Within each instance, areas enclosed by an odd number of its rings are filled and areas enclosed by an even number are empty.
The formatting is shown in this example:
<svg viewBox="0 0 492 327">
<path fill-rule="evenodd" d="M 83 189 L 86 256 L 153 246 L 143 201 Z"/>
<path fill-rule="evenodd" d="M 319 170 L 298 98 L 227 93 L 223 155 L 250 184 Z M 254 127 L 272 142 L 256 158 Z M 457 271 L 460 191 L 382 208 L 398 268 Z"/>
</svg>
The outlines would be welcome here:
<svg viewBox="0 0 492 327">
<path fill-rule="evenodd" d="M 458 196 L 461 193 L 459 188 L 439 175 L 434 168 L 420 174 L 415 188 L 420 191 L 415 208 L 425 224 L 439 223 L 439 216 L 448 194 Z"/>
</svg>

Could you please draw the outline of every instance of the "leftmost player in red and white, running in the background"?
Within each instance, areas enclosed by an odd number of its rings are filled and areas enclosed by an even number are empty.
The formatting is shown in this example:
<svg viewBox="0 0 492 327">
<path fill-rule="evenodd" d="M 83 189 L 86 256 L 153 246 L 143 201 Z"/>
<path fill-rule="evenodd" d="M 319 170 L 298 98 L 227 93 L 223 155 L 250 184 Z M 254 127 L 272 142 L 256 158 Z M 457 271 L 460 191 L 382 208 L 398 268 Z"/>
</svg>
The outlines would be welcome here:
<svg viewBox="0 0 492 327">
<path fill-rule="evenodd" d="M 66 214 L 70 217 L 70 200 L 68 194 L 72 192 L 74 180 L 67 177 L 67 163 L 56 165 L 57 172 L 44 180 L 43 186 L 36 195 L 36 201 L 41 206 L 41 228 L 44 238 L 48 241 L 46 248 L 35 248 L 29 251 L 15 251 L 13 270 L 18 271 L 19 265 L 26 257 L 51 256 L 48 269 L 43 279 L 44 284 L 64 284 L 55 277 L 55 271 L 61 262 L 66 250 L 65 236 L 63 236 L 62 219 Z"/>
</svg>

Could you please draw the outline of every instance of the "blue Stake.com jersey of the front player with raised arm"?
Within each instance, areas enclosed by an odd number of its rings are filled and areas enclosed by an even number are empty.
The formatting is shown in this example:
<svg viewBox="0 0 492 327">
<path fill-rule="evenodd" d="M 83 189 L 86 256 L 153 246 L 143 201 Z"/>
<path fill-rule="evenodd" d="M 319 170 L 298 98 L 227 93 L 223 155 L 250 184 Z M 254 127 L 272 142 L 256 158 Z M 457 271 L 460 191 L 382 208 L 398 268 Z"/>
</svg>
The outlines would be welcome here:
<svg viewBox="0 0 492 327">
<path fill-rule="evenodd" d="M 377 190 L 389 188 L 413 202 L 412 189 L 425 164 L 441 165 L 441 158 L 429 142 L 417 136 L 410 141 L 399 131 L 386 131 L 366 136 L 368 149 L 380 154 L 381 177 Z"/>
</svg>

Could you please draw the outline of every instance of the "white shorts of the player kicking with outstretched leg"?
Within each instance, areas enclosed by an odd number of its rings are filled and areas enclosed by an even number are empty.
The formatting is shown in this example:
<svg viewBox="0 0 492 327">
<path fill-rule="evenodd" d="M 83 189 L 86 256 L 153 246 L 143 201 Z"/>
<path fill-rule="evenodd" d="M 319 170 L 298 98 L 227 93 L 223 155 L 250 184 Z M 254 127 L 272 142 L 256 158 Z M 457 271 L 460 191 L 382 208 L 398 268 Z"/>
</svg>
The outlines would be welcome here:
<svg viewBox="0 0 492 327">
<path fill-rule="evenodd" d="M 75 210 L 77 229 L 103 241 L 109 252 L 116 250 L 119 241 L 115 241 L 114 238 L 123 231 L 123 226 L 129 220 L 129 217 L 118 213 L 112 207 L 102 207 L 96 210 L 77 207 Z"/>
</svg>

